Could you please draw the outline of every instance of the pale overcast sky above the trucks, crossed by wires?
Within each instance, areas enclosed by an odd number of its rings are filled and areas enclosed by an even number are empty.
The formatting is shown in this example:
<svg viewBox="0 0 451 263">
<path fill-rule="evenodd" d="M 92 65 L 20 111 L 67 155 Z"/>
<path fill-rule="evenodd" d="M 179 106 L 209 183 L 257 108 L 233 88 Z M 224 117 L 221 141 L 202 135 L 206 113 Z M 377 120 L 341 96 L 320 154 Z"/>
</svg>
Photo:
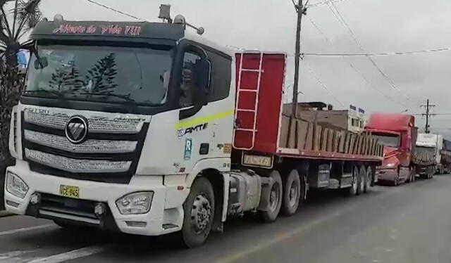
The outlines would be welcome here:
<svg viewBox="0 0 451 263">
<path fill-rule="evenodd" d="M 287 93 L 292 92 L 296 13 L 291 0 L 96 0 L 149 21 L 159 21 L 159 4 L 171 4 L 172 15 L 205 28 L 205 37 L 244 49 L 284 51 L 290 56 Z M 323 0 L 311 0 L 310 4 Z M 451 47 L 450 0 L 345 0 L 335 4 L 368 53 Z M 86 0 L 43 0 L 47 18 L 132 20 Z M 302 23 L 304 53 L 362 53 L 329 6 L 311 7 Z M 302 63 L 300 101 L 324 101 L 335 108 L 350 104 L 372 111 L 422 113 L 426 98 L 435 113 L 451 113 L 451 51 L 373 58 L 401 91 L 397 91 L 366 57 L 306 56 Z M 354 69 L 352 68 L 352 66 Z M 359 72 L 359 73 L 358 73 Z M 363 77 L 362 77 L 363 76 Z M 290 98 L 286 98 L 290 100 Z M 417 117 L 417 126 L 424 120 Z M 451 115 L 434 117 L 433 131 L 451 139 Z"/>
</svg>

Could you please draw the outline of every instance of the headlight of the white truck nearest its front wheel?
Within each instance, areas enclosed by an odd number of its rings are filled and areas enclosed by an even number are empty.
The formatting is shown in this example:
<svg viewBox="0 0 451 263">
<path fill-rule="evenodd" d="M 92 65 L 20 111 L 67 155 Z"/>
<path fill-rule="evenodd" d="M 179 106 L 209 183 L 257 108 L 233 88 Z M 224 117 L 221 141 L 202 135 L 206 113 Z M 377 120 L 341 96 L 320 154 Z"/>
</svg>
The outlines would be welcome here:
<svg viewBox="0 0 451 263">
<path fill-rule="evenodd" d="M 145 214 L 149 212 L 154 192 L 137 192 L 125 195 L 116 200 L 121 214 Z"/>
</svg>

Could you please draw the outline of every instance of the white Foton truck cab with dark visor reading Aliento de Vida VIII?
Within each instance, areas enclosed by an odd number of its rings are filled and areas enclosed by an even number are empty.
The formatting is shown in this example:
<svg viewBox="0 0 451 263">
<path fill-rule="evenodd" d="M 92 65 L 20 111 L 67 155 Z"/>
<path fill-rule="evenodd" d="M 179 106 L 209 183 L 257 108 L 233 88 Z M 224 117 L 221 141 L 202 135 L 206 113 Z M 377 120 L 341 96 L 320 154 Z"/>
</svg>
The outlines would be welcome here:
<svg viewBox="0 0 451 263">
<path fill-rule="evenodd" d="M 8 211 L 149 236 L 182 229 L 197 175 L 230 170 L 235 106 L 233 53 L 185 26 L 37 25 L 11 120 Z M 214 204 L 198 203 L 192 224 L 205 230 Z"/>
</svg>

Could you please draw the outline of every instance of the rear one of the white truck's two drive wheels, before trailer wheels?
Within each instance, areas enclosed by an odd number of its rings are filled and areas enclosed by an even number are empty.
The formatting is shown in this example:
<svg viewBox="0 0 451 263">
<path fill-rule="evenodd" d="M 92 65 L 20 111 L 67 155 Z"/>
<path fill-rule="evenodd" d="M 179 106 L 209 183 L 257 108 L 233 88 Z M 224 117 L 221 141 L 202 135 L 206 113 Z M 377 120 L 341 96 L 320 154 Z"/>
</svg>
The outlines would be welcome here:
<svg viewBox="0 0 451 263">
<path fill-rule="evenodd" d="M 297 169 L 292 169 L 283 182 L 282 214 L 295 214 L 301 198 L 301 179 Z M 303 197 L 302 197 L 303 198 Z"/>
</svg>

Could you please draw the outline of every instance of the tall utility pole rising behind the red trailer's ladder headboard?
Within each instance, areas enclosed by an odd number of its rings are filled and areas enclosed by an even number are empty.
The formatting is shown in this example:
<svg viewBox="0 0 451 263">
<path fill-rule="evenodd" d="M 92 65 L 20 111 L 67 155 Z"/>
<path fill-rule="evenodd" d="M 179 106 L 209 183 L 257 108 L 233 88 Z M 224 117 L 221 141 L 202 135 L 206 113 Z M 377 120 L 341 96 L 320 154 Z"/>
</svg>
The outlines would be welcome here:
<svg viewBox="0 0 451 263">
<path fill-rule="evenodd" d="M 308 0 L 307 0 L 308 2 Z M 293 3 L 294 0 L 293 0 Z M 297 12 L 297 29 L 296 29 L 296 47 L 295 47 L 295 84 L 293 84 L 293 105 L 292 115 L 296 117 L 297 114 L 297 96 L 299 94 L 299 65 L 301 60 L 301 23 L 302 15 L 307 13 L 307 8 L 303 5 L 302 0 L 299 0 L 298 4 L 295 4 Z"/>
</svg>

